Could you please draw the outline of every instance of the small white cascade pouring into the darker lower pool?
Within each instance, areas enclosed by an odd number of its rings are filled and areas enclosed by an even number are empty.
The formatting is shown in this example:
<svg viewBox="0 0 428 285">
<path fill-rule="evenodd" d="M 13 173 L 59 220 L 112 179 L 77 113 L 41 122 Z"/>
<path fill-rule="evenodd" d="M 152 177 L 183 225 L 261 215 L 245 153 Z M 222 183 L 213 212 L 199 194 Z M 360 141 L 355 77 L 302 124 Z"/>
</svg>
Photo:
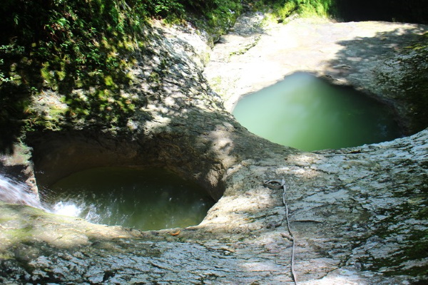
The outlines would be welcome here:
<svg viewBox="0 0 428 285">
<path fill-rule="evenodd" d="M 26 204 L 50 212 L 29 186 L 0 174 L 0 200 L 11 204 Z"/>
</svg>

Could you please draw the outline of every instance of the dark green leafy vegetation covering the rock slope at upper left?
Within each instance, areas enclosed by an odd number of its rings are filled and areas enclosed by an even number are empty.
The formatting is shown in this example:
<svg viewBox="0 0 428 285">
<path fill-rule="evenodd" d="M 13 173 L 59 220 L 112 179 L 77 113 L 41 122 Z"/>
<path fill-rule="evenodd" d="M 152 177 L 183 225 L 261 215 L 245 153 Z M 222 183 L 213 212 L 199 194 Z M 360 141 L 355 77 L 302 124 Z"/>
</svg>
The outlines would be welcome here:
<svg viewBox="0 0 428 285">
<path fill-rule="evenodd" d="M 23 128 L 51 128 L 51 114 L 34 110 L 31 103 L 34 95 L 41 100 L 44 90 L 63 95 L 67 108 L 56 110 L 63 125 L 78 120 L 123 125 L 123 113 L 133 112 L 147 100 L 144 95 L 128 98 L 122 92 L 132 84 L 136 54 L 145 48 L 144 25 L 151 18 L 178 23 L 191 11 L 206 27 L 223 22 L 230 26 L 230 16 L 236 17 L 232 9 L 240 9 L 238 0 L 3 1 L 0 151 L 7 150 Z"/>
</svg>

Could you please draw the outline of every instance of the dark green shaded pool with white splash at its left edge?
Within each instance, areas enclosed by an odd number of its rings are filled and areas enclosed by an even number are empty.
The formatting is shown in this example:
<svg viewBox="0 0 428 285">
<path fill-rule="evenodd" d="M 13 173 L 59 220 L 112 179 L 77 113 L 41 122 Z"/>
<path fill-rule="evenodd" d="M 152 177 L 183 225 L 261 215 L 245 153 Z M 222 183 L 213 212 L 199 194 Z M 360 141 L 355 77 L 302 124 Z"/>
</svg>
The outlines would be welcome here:
<svg viewBox="0 0 428 285">
<path fill-rule="evenodd" d="M 56 182 L 41 199 L 57 214 L 144 230 L 199 224 L 214 204 L 197 185 L 158 168 L 77 172 Z"/>
</svg>

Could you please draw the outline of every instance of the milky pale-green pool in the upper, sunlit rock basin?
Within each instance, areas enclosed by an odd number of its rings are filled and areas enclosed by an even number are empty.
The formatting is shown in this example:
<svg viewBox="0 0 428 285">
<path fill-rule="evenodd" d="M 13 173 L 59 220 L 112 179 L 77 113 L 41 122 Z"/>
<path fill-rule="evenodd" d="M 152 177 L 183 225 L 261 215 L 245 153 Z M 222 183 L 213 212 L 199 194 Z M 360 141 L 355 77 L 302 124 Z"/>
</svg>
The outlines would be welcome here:
<svg viewBox="0 0 428 285">
<path fill-rule="evenodd" d="M 250 132 L 300 150 L 337 149 L 399 138 L 394 115 L 351 88 L 307 73 L 238 101 L 233 115 Z"/>
</svg>

